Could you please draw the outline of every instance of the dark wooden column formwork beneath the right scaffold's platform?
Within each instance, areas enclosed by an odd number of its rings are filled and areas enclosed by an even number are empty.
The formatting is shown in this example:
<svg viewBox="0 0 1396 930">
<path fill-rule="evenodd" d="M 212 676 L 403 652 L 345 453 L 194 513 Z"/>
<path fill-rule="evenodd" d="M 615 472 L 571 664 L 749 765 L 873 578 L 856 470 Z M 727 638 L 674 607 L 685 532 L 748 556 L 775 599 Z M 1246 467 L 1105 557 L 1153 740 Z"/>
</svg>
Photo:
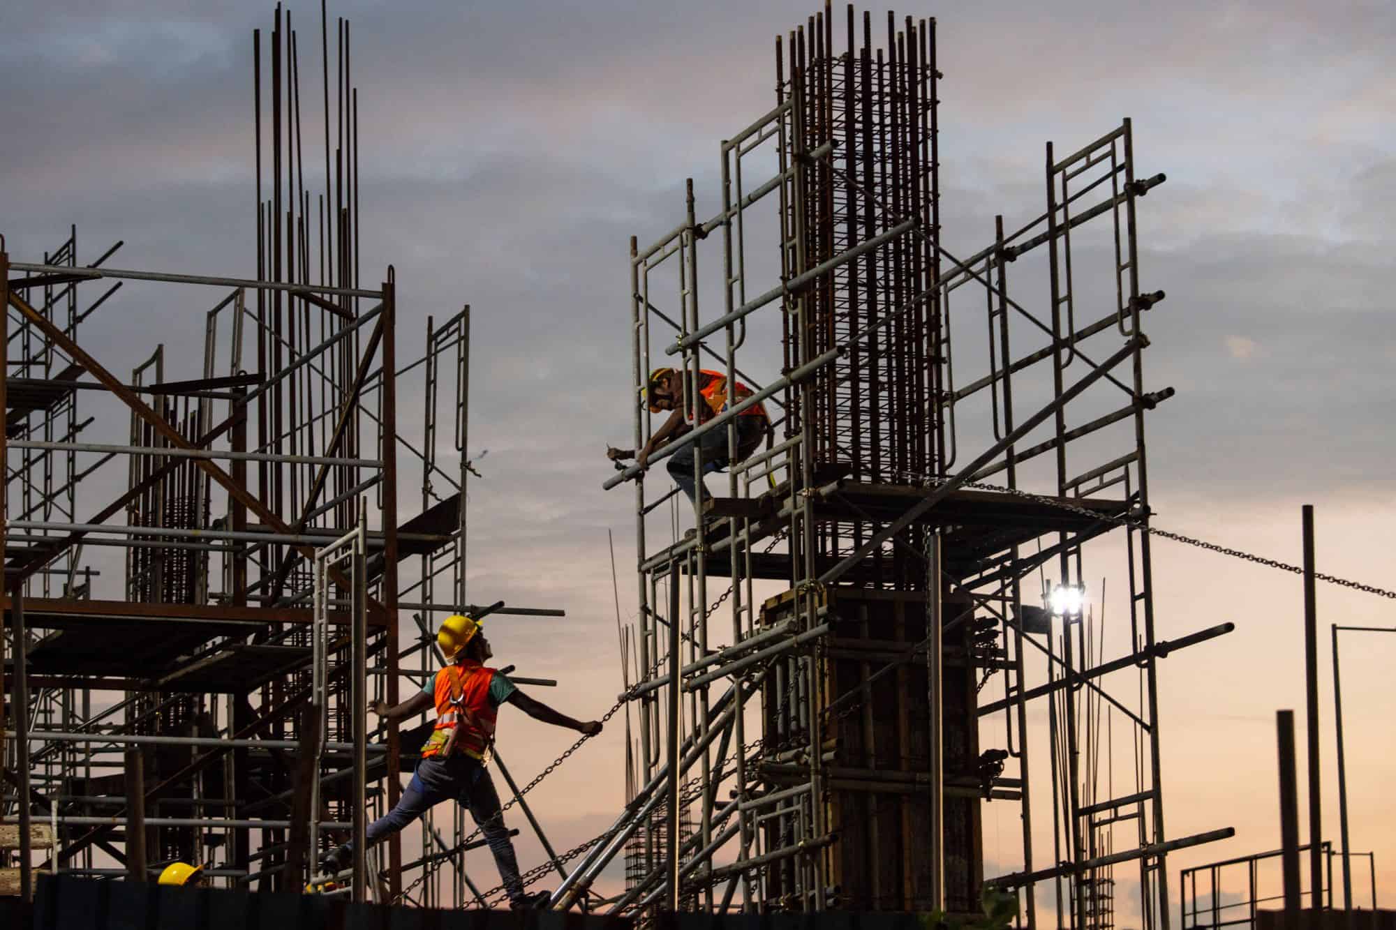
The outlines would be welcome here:
<svg viewBox="0 0 1396 930">
<path fill-rule="evenodd" d="M 825 811 L 838 841 L 826 852 L 839 905 L 853 910 L 928 910 L 931 862 L 930 695 L 926 654 L 900 660 L 926 638 L 920 592 L 831 588 L 821 593 L 831 633 L 819 649 L 824 700 L 833 704 L 871 679 L 868 694 L 835 711 L 825 732 L 832 760 L 825 772 Z M 946 599 L 946 620 L 965 609 Z M 764 621 L 792 614 L 787 592 L 766 602 Z M 959 630 L 967 628 L 962 624 Z M 976 670 L 965 662 L 963 634 L 945 641 L 942 669 L 944 765 L 946 776 L 973 771 L 979 760 Z M 893 670 L 874 673 L 893 662 Z M 775 725 L 775 684 L 766 686 L 766 728 Z M 983 881 L 980 802 L 945 797 L 946 909 L 974 912 Z M 769 841 L 768 841 L 769 843 Z M 782 887 L 779 877 L 775 885 Z"/>
</svg>

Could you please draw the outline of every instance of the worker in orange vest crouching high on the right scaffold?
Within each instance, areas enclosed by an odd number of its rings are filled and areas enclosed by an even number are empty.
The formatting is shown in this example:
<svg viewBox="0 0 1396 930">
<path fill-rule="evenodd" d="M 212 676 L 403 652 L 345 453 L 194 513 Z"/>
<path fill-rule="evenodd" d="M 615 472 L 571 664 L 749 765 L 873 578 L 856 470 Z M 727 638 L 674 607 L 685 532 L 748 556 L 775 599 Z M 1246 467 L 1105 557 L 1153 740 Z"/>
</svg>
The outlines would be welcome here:
<svg viewBox="0 0 1396 930">
<path fill-rule="evenodd" d="M 726 411 L 729 404 L 737 404 L 751 397 L 751 388 L 741 381 L 737 381 L 736 390 L 729 391 L 727 376 L 720 371 L 709 371 L 708 369 L 704 369 L 698 373 L 698 394 L 702 397 L 702 404 L 698 405 L 698 423 L 702 425 Z M 662 411 L 673 411 L 673 413 L 670 413 L 669 419 L 651 434 L 649 441 L 645 443 L 645 447 L 639 450 L 638 455 L 634 450 L 607 448 L 606 457 L 613 461 L 623 461 L 634 457 L 635 464 L 644 469 L 649 464 L 649 457 L 656 448 L 664 445 L 670 440 L 678 438 L 692 429 L 685 418 L 688 405 L 684 402 L 684 397 L 683 371 L 678 369 L 655 369 L 651 371 L 646 387 L 639 391 L 641 404 L 648 402 L 651 413 L 659 413 Z M 766 409 L 759 404 L 752 404 L 738 413 L 736 419 L 736 461 L 740 462 L 757 451 L 762 438 L 771 437 L 771 420 L 766 418 Z M 698 441 L 684 445 L 669 457 L 669 475 L 674 479 L 674 483 L 678 485 L 685 494 L 688 494 L 688 500 L 701 503 L 701 500 L 695 500 L 695 492 L 697 494 L 705 497 L 706 487 L 701 483 L 694 483 L 695 448 L 702 452 L 704 475 L 727 468 L 727 465 L 732 464 L 727 461 L 727 430 L 720 427 L 709 430 L 701 436 Z M 641 476 L 644 476 L 644 472 L 641 472 Z"/>
</svg>

